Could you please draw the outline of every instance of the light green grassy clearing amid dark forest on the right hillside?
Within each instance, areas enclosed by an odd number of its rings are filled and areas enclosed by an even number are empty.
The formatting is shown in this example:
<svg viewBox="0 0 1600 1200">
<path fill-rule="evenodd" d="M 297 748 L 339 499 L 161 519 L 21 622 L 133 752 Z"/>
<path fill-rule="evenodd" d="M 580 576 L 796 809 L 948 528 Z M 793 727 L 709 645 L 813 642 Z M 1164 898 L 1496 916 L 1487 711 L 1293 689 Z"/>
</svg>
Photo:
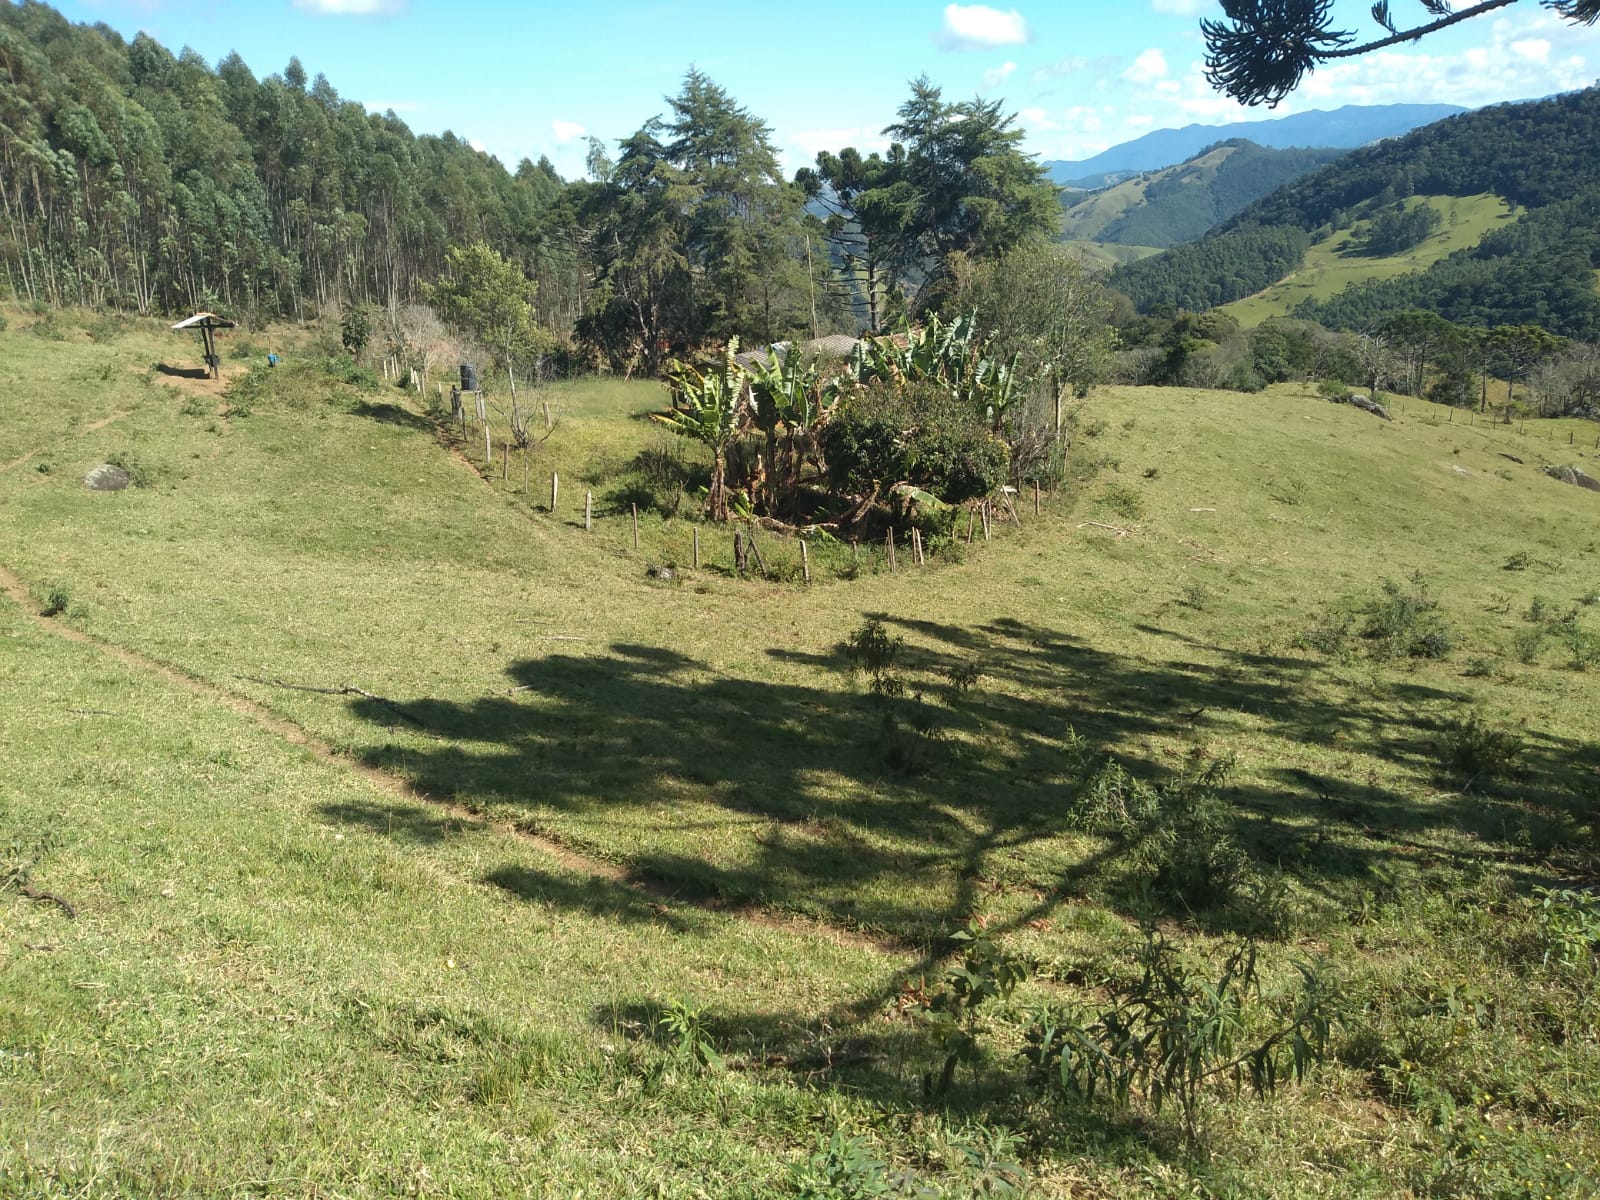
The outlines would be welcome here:
<svg viewBox="0 0 1600 1200">
<path fill-rule="evenodd" d="M 1483 235 L 1515 221 L 1520 210 L 1512 208 L 1496 195 L 1429 195 L 1410 197 L 1408 208 L 1429 205 L 1443 224 L 1435 234 L 1419 242 L 1405 254 L 1370 258 L 1355 246 L 1371 221 L 1355 221 L 1306 251 L 1306 266 L 1288 278 L 1254 296 L 1224 304 L 1227 312 L 1245 328 L 1261 325 L 1269 317 L 1286 317 L 1304 299 L 1330 299 L 1350 283 L 1381 280 L 1424 270 L 1456 250 L 1475 246 Z"/>
</svg>

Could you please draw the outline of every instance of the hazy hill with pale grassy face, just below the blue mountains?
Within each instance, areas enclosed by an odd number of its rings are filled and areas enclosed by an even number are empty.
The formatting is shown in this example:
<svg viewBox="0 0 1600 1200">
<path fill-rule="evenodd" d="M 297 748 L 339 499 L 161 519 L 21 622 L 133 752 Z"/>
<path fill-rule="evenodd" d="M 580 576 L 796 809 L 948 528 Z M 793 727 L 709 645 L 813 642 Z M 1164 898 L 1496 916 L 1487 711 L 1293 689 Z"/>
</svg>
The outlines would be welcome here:
<svg viewBox="0 0 1600 1200">
<path fill-rule="evenodd" d="M 1178 166 L 1126 179 L 1078 200 L 1067 208 L 1062 235 L 1128 246 L 1176 246 L 1342 154 L 1336 149 L 1269 150 L 1235 138 Z"/>
</svg>

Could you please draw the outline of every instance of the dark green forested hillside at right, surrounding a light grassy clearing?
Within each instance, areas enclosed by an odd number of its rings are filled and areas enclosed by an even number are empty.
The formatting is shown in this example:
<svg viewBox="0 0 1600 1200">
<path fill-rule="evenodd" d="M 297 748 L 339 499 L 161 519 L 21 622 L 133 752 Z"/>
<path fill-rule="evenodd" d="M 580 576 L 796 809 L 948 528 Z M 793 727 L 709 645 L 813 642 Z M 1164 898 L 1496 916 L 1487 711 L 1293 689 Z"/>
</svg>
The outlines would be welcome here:
<svg viewBox="0 0 1600 1200">
<path fill-rule="evenodd" d="M 1118 269 L 1114 283 L 1141 310 L 1226 304 L 1298 269 L 1298 259 L 1288 267 L 1283 262 L 1285 246 L 1296 238 L 1310 245 L 1366 222 L 1370 240 L 1386 214 L 1398 224 L 1408 197 L 1493 192 L 1526 214 L 1426 272 L 1355 285 L 1326 302 L 1301 306 L 1298 315 L 1365 328 L 1422 307 L 1474 325 L 1533 322 L 1594 338 L 1600 333 L 1594 286 L 1600 267 L 1597 144 L 1595 88 L 1451 117 L 1355 150 L 1258 200 L 1202 242 Z"/>
</svg>

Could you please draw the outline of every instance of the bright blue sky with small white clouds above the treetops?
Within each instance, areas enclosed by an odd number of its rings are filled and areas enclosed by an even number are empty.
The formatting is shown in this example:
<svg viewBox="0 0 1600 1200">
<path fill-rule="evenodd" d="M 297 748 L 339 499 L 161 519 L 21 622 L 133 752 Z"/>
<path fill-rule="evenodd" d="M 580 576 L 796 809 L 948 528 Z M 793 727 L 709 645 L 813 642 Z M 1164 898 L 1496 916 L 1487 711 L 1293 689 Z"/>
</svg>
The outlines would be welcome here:
<svg viewBox="0 0 1600 1200">
<path fill-rule="evenodd" d="M 949 99 L 1002 99 L 1042 158 L 1083 158 L 1154 128 L 1219 125 L 1341 104 L 1528 99 L 1600 77 L 1600 29 L 1533 0 L 1411 46 L 1315 72 L 1277 112 L 1240 109 L 1200 75 L 1213 0 L 1016 6 L 814 0 L 806 6 L 661 0 L 69 0 L 72 21 L 146 30 L 258 75 L 298 54 L 347 99 L 418 133 L 453 130 L 507 165 L 582 171 L 586 136 L 614 142 L 661 112 L 693 64 L 773 128 L 789 171 L 819 149 L 883 144 L 926 74 Z M 1373 34 L 1365 0 L 1344 27 Z M 1394 0 L 1397 16 L 1421 16 Z"/>
</svg>

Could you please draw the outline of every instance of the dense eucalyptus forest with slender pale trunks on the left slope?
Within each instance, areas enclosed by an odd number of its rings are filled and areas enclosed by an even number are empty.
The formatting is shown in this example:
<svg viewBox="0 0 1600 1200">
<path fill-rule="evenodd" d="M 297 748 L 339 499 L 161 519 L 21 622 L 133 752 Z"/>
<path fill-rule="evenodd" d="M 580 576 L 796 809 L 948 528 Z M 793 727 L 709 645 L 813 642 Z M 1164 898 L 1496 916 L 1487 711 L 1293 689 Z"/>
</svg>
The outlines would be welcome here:
<svg viewBox="0 0 1600 1200">
<path fill-rule="evenodd" d="M 386 302 L 485 240 L 576 302 L 562 181 L 368 114 L 298 59 L 258 80 L 141 34 L 0 5 L 0 262 L 13 294 L 138 312 Z"/>
</svg>

